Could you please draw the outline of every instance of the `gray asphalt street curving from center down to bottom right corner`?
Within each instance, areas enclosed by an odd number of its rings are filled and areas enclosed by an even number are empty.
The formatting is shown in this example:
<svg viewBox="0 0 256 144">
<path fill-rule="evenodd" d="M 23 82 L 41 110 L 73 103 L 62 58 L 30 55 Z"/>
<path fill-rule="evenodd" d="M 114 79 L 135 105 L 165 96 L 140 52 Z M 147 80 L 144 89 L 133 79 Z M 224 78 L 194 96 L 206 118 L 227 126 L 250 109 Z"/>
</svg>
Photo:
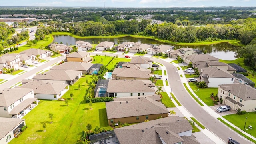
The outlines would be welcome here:
<svg viewBox="0 0 256 144">
<path fill-rule="evenodd" d="M 234 132 L 234 130 L 228 128 L 222 122 L 206 112 L 192 98 L 192 96 L 188 94 L 188 92 L 184 88 L 183 83 L 180 80 L 180 75 L 177 72 L 177 68 L 174 65 L 163 60 L 154 59 L 154 61 L 159 62 L 166 67 L 168 82 L 170 84 L 170 87 L 172 88 L 172 92 L 175 93 L 176 98 L 180 101 L 182 106 L 184 106 L 184 108 L 186 108 L 186 110 L 188 110 L 188 112 L 190 112 L 190 114 L 192 114 L 197 120 L 204 124 L 204 126 L 206 126 L 208 130 L 224 140 L 224 142 L 227 142 L 227 138 L 230 136 L 234 138 L 234 140 L 240 142 L 240 144 L 252 144 L 252 142 L 241 137 L 239 134 Z"/>
</svg>

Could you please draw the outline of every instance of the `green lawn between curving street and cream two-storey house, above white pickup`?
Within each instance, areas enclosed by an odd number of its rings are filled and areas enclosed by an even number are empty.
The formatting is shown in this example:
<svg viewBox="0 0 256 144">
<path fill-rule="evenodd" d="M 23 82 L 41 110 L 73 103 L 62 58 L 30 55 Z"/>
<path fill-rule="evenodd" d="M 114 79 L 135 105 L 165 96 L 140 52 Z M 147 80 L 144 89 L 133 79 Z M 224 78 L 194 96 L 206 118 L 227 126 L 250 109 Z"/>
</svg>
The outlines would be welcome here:
<svg viewBox="0 0 256 144">
<path fill-rule="evenodd" d="M 214 94 L 214 96 L 218 93 L 218 88 L 198 88 L 192 82 L 188 83 L 190 88 L 194 90 L 196 95 L 205 103 L 207 106 L 214 106 L 212 99 L 210 98 L 210 94 Z M 199 89 L 199 90 L 198 90 Z"/>
</svg>

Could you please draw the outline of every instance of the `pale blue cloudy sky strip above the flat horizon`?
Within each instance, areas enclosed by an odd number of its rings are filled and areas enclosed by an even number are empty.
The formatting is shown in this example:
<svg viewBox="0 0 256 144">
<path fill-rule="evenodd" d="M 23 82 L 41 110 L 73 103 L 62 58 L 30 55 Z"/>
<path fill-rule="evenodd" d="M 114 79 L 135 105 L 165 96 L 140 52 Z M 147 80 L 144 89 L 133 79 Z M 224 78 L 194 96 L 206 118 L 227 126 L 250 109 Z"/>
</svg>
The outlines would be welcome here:
<svg viewBox="0 0 256 144">
<path fill-rule="evenodd" d="M 0 0 L 0 6 L 56 6 L 56 7 L 117 7 L 117 8 L 171 8 L 171 7 L 256 7 L 256 0 Z"/>
</svg>

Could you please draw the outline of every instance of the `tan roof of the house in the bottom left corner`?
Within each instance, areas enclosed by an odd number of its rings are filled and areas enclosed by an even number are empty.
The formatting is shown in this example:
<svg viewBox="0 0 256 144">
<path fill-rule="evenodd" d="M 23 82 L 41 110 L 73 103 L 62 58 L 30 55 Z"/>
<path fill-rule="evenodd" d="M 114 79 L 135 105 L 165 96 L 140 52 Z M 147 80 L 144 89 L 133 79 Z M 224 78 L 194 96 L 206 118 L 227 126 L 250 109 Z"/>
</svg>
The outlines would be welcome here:
<svg viewBox="0 0 256 144">
<path fill-rule="evenodd" d="M 20 118 L 3 118 L 0 117 L 0 139 L 4 138 L 6 134 L 11 132 L 18 124 L 23 122 L 25 119 Z"/>
</svg>

